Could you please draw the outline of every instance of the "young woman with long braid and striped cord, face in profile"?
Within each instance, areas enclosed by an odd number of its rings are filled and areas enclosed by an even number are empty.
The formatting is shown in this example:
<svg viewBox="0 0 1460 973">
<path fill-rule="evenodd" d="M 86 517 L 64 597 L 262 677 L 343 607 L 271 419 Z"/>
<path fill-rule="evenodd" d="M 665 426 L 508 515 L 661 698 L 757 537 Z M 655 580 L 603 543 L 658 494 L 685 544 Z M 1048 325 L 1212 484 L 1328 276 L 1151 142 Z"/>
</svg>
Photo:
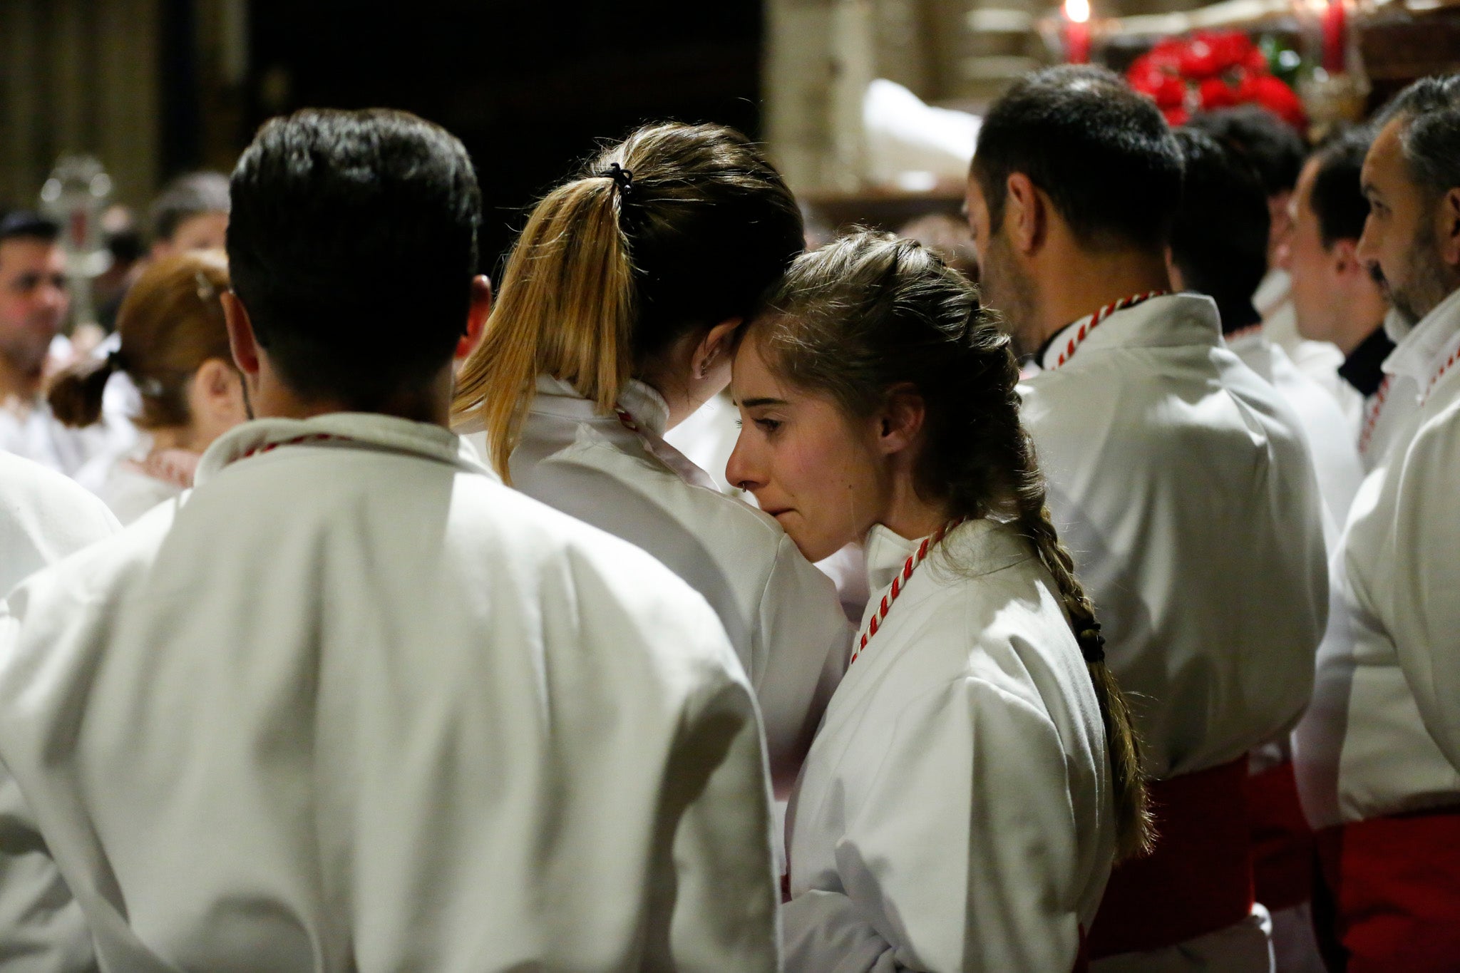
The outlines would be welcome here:
<svg viewBox="0 0 1460 973">
<path fill-rule="evenodd" d="M 788 823 L 790 970 L 1070 970 L 1150 843 L 1126 700 L 1045 509 L 1018 363 L 912 241 L 802 257 L 746 330 L 727 474 L 873 598 Z"/>
</svg>

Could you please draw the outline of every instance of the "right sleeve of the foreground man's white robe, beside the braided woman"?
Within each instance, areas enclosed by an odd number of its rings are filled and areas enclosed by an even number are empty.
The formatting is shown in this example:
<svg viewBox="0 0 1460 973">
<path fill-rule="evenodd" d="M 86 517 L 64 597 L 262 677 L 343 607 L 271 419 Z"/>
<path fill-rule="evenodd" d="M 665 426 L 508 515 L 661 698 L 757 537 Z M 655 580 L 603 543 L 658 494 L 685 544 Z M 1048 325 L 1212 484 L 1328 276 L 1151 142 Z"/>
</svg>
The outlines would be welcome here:
<svg viewBox="0 0 1460 973">
<path fill-rule="evenodd" d="M 733 658 L 729 645 L 726 656 Z M 669 951 L 675 970 L 780 969 L 771 795 L 761 728 L 743 683 L 726 681 L 688 721 L 664 775 L 677 813 Z M 653 953 L 653 950 L 651 950 Z M 658 964 L 653 964 L 658 966 Z"/>
</svg>

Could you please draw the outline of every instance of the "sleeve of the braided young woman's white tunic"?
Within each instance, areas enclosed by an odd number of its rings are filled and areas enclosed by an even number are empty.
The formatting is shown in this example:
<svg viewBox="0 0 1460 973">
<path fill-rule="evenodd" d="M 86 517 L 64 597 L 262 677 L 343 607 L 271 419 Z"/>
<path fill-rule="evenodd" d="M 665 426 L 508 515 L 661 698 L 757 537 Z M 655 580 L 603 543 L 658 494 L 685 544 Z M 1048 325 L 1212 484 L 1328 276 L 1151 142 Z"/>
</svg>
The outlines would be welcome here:
<svg viewBox="0 0 1460 973">
<path fill-rule="evenodd" d="M 880 754 L 850 760 L 880 766 L 847 810 L 834 881 L 783 907 L 788 972 L 1075 964 L 1076 827 L 1041 710 L 959 678 L 914 700 Z"/>
</svg>

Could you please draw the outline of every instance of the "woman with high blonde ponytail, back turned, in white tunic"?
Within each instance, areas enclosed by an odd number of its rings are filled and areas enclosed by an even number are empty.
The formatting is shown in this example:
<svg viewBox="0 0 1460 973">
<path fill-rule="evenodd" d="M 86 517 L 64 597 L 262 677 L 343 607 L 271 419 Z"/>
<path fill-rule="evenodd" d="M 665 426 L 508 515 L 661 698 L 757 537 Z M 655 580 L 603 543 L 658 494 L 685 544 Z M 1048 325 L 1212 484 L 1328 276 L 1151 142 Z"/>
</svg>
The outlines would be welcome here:
<svg viewBox="0 0 1460 973">
<path fill-rule="evenodd" d="M 745 136 L 639 128 L 533 210 L 454 403 L 507 483 L 705 597 L 756 690 L 783 792 L 845 665 L 845 617 L 777 522 L 720 493 L 664 432 L 729 384 L 736 330 L 802 241 L 796 200 Z"/>
</svg>

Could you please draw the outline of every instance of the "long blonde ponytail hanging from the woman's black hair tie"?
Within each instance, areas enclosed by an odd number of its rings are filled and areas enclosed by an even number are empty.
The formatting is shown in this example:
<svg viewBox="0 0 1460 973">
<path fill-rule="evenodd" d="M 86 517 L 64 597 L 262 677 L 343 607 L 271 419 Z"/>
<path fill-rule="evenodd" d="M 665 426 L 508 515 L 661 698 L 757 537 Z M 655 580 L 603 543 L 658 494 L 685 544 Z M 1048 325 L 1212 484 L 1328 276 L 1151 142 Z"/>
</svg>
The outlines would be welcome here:
<svg viewBox="0 0 1460 973">
<path fill-rule="evenodd" d="M 607 411 L 632 368 L 634 267 L 607 177 L 553 190 L 512 248 L 482 343 L 457 376 L 453 414 L 476 413 L 492 465 L 508 460 L 539 375 L 572 384 Z"/>
</svg>

